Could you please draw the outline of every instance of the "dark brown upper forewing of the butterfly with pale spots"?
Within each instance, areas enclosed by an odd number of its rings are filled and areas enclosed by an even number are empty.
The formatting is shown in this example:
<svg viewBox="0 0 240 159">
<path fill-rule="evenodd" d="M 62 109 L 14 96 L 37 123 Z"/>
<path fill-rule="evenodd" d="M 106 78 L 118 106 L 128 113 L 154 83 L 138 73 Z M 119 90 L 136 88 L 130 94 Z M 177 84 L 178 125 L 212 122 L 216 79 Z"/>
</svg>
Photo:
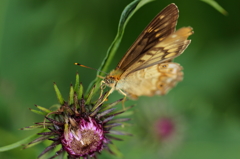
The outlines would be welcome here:
<svg viewBox="0 0 240 159">
<path fill-rule="evenodd" d="M 116 69 L 120 69 L 123 72 L 127 69 L 130 70 L 130 67 L 134 65 L 152 47 L 175 31 L 177 19 L 177 6 L 175 4 L 168 5 L 140 34 L 140 36 L 119 62 Z"/>
</svg>

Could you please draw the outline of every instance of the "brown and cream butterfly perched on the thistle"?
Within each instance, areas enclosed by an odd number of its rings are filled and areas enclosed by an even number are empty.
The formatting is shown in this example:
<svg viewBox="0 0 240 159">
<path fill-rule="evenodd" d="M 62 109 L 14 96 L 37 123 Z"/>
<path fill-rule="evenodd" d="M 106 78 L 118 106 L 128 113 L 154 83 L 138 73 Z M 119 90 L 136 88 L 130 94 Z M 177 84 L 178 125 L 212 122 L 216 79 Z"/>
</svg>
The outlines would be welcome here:
<svg viewBox="0 0 240 159">
<path fill-rule="evenodd" d="M 183 78 L 182 67 L 172 59 L 190 44 L 191 27 L 175 31 L 178 8 L 163 9 L 140 34 L 117 67 L 102 81 L 130 98 L 164 95 Z"/>
</svg>

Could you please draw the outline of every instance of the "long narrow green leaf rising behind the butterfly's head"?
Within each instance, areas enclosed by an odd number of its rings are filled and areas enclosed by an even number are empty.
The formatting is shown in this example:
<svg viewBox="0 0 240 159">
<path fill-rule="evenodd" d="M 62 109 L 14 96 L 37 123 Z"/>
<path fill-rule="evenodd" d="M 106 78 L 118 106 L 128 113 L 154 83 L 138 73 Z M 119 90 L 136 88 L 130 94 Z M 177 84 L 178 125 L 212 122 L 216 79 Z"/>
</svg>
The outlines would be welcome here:
<svg viewBox="0 0 240 159">
<path fill-rule="evenodd" d="M 125 7 L 125 9 L 123 10 L 122 15 L 120 17 L 120 20 L 119 20 L 117 35 L 116 35 L 115 39 L 113 40 L 112 44 L 110 45 L 110 47 L 108 48 L 107 55 L 104 58 L 100 68 L 98 69 L 102 72 L 100 72 L 100 71 L 97 72 L 97 77 L 89 85 L 87 92 L 90 91 L 90 89 L 93 87 L 94 84 L 96 84 L 95 92 L 98 90 L 98 88 L 100 87 L 100 82 L 102 80 L 99 78 L 99 76 L 102 76 L 102 77 L 105 76 L 104 72 L 108 71 L 108 66 L 110 65 L 119 45 L 121 43 L 121 40 L 122 40 L 122 37 L 124 34 L 124 30 L 125 30 L 125 27 L 126 27 L 128 21 L 130 20 L 130 18 L 133 16 L 133 14 L 138 9 L 140 9 L 142 6 L 144 6 L 145 4 L 147 4 L 151 1 L 153 1 L 153 0 L 135 0 Z"/>
</svg>

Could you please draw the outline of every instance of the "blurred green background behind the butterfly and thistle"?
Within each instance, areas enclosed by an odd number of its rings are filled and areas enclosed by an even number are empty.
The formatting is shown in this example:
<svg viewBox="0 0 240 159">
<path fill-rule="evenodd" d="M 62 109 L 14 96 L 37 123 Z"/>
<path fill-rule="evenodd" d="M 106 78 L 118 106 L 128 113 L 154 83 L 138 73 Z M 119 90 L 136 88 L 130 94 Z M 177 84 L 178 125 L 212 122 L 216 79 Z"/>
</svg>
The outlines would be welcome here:
<svg viewBox="0 0 240 159">
<path fill-rule="evenodd" d="M 0 146 L 35 131 L 21 127 L 42 120 L 28 108 L 57 103 L 53 82 L 65 99 L 79 72 L 85 88 L 115 37 L 118 20 L 130 0 L 0 0 Z M 132 109 L 133 137 L 114 142 L 125 159 L 240 158 L 240 1 L 218 0 L 224 16 L 201 1 L 156 0 L 141 8 L 127 25 L 113 69 L 151 19 L 170 3 L 180 10 L 177 28 L 191 26 L 192 43 L 175 62 L 184 80 L 164 97 L 141 97 Z M 122 95 L 114 93 L 114 98 Z M 120 105 L 119 105 L 120 106 Z M 175 124 L 168 139 L 154 137 L 162 117 Z M 44 144 L 0 153 L 2 159 L 32 159 Z M 100 158 L 117 158 L 103 153 Z"/>
</svg>

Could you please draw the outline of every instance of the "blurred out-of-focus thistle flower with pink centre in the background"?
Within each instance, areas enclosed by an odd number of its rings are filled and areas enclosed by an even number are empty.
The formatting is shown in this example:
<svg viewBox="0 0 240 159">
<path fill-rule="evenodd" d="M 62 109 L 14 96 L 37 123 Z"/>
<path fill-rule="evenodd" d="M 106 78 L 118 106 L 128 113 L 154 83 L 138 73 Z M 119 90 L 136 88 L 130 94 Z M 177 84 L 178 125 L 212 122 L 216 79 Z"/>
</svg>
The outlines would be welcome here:
<svg viewBox="0 0 240 159">
<path fill-rule="evenodd" d="M 135 125 L 136 131 L 139 132 L 138 136 L 145 139 L 141 140 L 142 145 L 155 150 L 157 158 L 170 157 L 185 136 L 183 117 L 164 102 L 141 102 L 138 106 L 142 108 L 142 113 L 135 113 L 137 119 Z"/>
</svg>

